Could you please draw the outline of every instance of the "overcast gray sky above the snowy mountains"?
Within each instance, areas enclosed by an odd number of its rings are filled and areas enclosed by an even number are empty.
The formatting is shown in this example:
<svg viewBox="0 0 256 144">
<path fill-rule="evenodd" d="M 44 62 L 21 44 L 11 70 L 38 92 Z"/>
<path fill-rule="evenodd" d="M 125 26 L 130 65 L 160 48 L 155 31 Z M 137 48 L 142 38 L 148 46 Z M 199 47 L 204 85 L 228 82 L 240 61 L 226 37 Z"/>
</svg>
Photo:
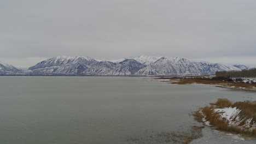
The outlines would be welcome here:
<svg viewBox="0 0 256 144">
<path fill-rule="evenodd" d="M 1 0 L 0 61 L 177 56 L 256 66 L 255 0 Z"/>
</svg>

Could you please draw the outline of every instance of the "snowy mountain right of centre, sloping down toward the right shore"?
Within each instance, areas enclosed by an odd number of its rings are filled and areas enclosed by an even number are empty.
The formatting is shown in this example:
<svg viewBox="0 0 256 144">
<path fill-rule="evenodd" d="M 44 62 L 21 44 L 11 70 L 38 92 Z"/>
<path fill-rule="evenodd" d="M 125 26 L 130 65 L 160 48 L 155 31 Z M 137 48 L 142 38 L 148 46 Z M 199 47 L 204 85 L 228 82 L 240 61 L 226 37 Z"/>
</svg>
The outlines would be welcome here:
<svg viewBox="0 0 256 144">
<path fill-rule="evenodd" d="M 179 57 L 161 57 L 155 63 L 140 69 L 138 75 L 212 75 L 216 71 L 223 70 L 241 70 L 236 67 L 223 65 L 219 63 L 195 62 Z"/>
</svg>

